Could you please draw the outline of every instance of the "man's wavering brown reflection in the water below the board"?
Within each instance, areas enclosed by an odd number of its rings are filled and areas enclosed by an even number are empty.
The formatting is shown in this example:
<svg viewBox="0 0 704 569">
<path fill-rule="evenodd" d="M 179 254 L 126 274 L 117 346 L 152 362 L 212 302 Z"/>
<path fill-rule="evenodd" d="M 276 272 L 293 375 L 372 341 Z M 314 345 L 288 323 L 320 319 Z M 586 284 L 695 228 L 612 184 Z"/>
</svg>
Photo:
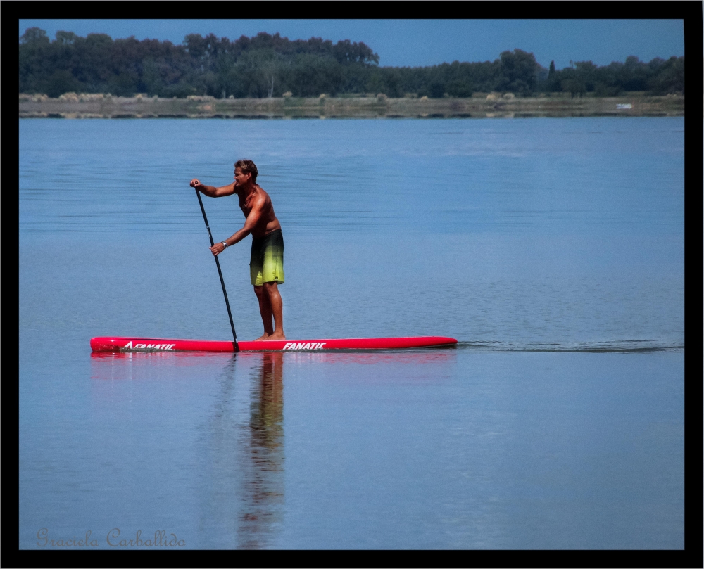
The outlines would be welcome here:
<svg viewBox="0 0 704 569">
<path fill-rule="evenodd" d="M 252 382 L 249 448 L 244 452 L 238 546 L 271 545 L 281 527 L 284 507 L 284 390 L 281 352 L 261 354 Z M 245 450 L 245 449 L 243 449 Z"/>
</svg>

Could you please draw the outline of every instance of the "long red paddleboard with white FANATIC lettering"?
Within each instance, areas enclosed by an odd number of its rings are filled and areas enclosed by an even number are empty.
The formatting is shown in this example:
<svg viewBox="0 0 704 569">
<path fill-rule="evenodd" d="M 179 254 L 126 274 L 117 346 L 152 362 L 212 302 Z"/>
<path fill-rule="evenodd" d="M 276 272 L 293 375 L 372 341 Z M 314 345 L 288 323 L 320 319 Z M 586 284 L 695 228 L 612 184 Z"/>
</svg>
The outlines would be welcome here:
<svg viewBox="0 0 704 569">
<path fill-rule="evenodd" d="M 396 350 L 404 347 L 453 346 L 455 338 L 415 336 L 411 338 L 336 338 L 334 340 L 263 340 L 219 342 L 216 340 L 165 340 L 163 338 L 91 338 L 94 352 L 149 350 L 159 352 L 314 352 L 320 350 Z"/>
</svg>

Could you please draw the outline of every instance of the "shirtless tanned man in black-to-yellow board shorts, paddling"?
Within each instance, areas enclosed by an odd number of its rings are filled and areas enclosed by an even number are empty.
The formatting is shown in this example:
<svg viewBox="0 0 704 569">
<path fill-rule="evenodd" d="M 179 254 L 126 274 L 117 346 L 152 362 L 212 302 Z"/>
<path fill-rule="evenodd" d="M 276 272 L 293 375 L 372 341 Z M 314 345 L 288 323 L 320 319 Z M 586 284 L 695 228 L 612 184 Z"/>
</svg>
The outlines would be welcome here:
<svg viewBox="0 0 704 569">
<path fill-rule="evenodd" d="M 191 187 L 210 198 L 232 196 L 237 193 L 239 207 L 244 212 L 242 229 L 210 248 L 220 255 L 226 248 L 252 234 L 252 252 L 249 274 L 254 293 L 259 300 L 259 312 L 264 323 L 264 335 L 257 340 L 286 340 L 279 284 L 284 282 L 284 238 L 281 224 L 274 214 L 271 198 L 257 182 L 257 167 L 251 160 L 237 160 L 234 164 L 234 182 L 228 186 L 206 186 L 194 178 Z M 272 326 L 272 317 L 274 326 Z"/>
</svg>

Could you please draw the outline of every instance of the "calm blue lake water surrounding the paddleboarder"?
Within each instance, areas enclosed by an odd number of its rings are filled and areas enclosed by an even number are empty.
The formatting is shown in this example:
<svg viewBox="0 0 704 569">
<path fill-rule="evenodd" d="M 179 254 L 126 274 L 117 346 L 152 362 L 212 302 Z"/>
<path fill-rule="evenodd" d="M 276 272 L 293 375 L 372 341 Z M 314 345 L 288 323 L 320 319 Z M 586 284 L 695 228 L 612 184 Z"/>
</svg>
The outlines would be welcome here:
<svg viewBox="0 0 704 569">
<path fill-rule="evenodd" d="M 231 338 L 238 158 L 289 339 L 458 347 L 92 355 Z M 20 120 L 19 220 L 23 549 L 684 546 L 681 117 Z"/>
</svg>

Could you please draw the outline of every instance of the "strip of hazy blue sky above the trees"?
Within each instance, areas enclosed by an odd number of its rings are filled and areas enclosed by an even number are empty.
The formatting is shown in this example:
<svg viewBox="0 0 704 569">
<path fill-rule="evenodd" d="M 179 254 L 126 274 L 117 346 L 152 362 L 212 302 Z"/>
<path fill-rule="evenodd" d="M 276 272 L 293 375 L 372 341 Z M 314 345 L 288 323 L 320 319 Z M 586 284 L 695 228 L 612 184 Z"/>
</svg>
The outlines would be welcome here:
<svg viewBox="0 0 704 569">
<path fill-rule="evenodd" d="M 363 41 L 379 54 L 379 65 L 417 66 L 443 62 L 493 61 L 515 48 L 535 54 L 544 67 L 555 60 L 562 69 L 570 60 L 596 65 L 637 56 L 684 56 L 683 20 L 19 20 L 27 27 L 109 34 L 113 39 L 168 39 L 180 44 L 187 34 L 232 40 L 258 32 L 279 32 L 289 39 L 322 37 Z"/>
</svg>

